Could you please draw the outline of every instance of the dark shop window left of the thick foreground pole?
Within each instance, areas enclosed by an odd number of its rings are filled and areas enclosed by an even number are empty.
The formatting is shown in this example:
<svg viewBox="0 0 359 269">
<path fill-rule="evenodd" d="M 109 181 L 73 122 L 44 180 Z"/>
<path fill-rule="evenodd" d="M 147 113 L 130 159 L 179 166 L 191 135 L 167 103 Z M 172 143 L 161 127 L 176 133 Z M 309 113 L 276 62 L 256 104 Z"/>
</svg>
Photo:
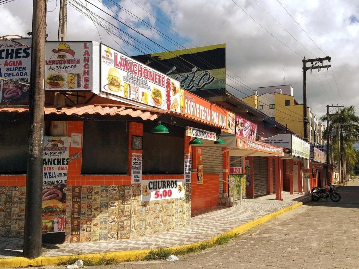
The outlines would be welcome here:
<svg viewBox="0 0 359 269">
<path fill-rule="evenodd" d="M 0 122 L 0 174 L 26 174 L 28 122 Z"/>
</svg>

